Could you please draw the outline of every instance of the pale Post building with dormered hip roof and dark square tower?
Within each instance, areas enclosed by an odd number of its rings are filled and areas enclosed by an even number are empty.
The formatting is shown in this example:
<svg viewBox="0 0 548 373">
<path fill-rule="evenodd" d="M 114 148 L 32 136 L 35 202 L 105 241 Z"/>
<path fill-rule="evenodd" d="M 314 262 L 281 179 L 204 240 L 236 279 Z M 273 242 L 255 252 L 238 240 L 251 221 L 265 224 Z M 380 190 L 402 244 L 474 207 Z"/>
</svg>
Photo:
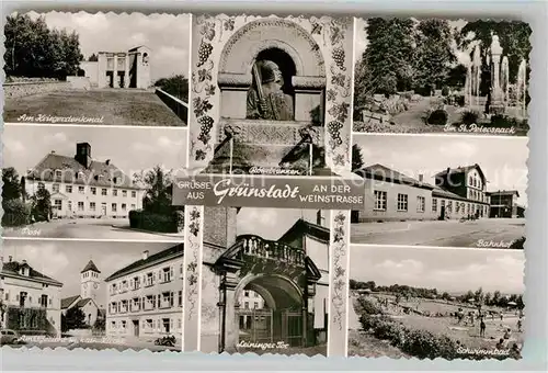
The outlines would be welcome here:
<svg viewBox="0 0 548 373">
<path fill-rule="evenodd" d="M 145 191 L 110 159 L 91 157 L 91 145 L 79 143 L 73 157 L 46 155 L 25 177 L 25 190 L 50 194 L 53 217 L 127 218 L 132 210 L 142 208 Z"/>
</svg>

